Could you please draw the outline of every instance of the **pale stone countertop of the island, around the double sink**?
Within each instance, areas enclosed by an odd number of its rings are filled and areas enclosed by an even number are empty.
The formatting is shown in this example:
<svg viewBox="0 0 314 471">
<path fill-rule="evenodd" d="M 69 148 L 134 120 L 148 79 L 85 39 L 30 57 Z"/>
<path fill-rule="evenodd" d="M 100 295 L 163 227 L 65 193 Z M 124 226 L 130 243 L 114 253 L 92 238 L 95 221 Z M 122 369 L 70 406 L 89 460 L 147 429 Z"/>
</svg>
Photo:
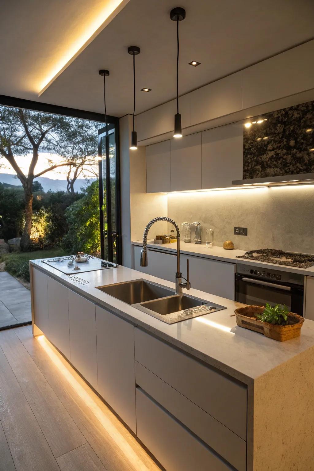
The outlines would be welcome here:
<svg viewBox="0 0 314 471">
<path fill-rule="evenodd" d="M 174 288 L 174 283 L 120 266 L 86 273 L 74 272 L 89 282 L 82 285 L 41 263 L 41 260 L 32 260 L 30 263 L 89 300 L 246 384 L 251 384 L 254 379 L 314 346 L 314 322 L 310 320 L 305 320 L 301 336 L 297 339 L 274 341 L 236 325 L 235 317 L 231 316 L 239 303 L 191 289 L 187 294 L 223 305 L 227 309 L 169 325 L 105 294 L 97 286 L 139 278 L 170 288 Z"/>
</svg>

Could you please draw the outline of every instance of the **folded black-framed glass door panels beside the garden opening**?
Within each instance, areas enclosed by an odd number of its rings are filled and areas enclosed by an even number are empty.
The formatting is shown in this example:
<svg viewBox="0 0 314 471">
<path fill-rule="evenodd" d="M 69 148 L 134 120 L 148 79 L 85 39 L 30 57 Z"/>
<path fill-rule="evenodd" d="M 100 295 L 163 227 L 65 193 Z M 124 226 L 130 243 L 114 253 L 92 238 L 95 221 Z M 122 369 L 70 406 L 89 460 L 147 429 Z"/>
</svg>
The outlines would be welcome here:
<svg viewBox="0 0 314 471">
<path fill-rule="evenodd" d="M 107 124 L 98 131 L 101 258 L 121 260 L 119 129 Z"/>
</svg>

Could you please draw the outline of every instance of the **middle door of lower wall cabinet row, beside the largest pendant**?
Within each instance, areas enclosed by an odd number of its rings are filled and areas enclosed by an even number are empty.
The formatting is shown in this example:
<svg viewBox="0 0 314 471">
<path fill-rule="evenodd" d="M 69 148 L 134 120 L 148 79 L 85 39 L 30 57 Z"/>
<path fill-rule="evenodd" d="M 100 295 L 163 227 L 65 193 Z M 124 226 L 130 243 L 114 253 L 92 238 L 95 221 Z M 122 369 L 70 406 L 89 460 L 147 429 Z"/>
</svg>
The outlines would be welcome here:
<svg viewBox="0 0 314 471">
<path fill-rule="evenodd" d="M 201 188 L 201 133 L 170 140 L 171 191 Z"/>
</svg>

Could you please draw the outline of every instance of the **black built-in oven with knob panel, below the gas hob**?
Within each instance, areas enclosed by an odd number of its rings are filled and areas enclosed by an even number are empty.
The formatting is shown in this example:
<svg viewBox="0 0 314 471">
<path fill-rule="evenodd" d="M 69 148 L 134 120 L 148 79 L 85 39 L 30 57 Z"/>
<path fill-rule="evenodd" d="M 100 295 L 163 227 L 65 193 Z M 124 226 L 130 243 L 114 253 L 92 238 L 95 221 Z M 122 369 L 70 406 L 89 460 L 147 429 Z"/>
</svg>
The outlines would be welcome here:
<svg viewBox="0 0 314 471">
<path fill-rule="evenodd" d="M 290 312 L 303 316 L 304 276 L 237 263 L 235 300 L 265 306 L 285 304 Z"/>
</svg>

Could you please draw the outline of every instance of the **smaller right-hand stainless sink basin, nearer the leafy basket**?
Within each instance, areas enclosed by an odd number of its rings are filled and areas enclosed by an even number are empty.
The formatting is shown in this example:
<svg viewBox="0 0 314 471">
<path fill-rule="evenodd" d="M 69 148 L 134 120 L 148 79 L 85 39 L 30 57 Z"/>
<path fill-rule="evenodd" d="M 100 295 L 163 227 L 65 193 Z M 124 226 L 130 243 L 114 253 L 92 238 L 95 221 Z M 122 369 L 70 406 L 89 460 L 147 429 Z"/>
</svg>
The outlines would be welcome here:
<svg viewBox="0 0 314 471">
<path fill-rule="evenodd" d="M 191 296 L 186 296 L 185 294 L 176 294 L 168 298 L 145 302 L 144 304 L 142 303 L 141 306 L 145 306 L 146 309 L 150 309 L 151 311 L 165 316 L 167 314 L 171 314 L 172 312 L 203 306 L 207 303 L 208 301 L 192 298 Z"/>
</svg>

